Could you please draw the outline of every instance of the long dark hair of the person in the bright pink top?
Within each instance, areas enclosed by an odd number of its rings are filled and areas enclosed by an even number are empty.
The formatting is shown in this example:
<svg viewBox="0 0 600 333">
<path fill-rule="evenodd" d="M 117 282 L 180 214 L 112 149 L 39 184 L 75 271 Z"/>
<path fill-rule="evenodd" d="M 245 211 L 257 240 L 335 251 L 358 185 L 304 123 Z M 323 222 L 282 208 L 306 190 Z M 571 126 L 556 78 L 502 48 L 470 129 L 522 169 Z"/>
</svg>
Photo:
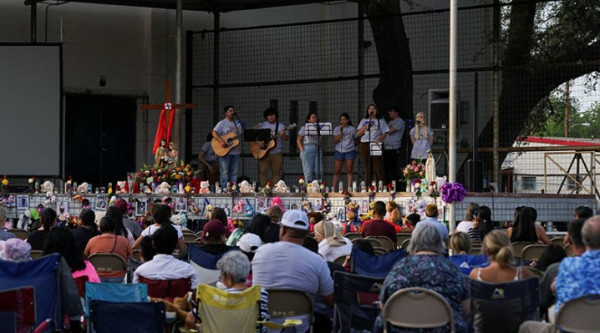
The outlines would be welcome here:
<svg viewBox="0 0 600 333">
<path fill-rule="evenodd" d="M 85 257 L 77 245 L 75 238 L 67 228 L 52 228 L 46 237 L 44 255 L 59 253 L 71 268 L 72 272 L 85 269 Z"/>
</svg>

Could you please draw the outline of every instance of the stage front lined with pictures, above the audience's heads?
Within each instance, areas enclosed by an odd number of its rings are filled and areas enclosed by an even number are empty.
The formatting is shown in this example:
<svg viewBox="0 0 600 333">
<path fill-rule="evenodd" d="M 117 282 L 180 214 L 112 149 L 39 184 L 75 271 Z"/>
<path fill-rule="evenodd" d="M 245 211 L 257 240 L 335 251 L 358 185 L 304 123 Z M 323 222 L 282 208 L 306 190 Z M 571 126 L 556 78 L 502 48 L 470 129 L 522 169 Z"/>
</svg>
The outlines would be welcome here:
<svg viewBox="0 0 600 333">
<path fill-rule="evenodd" d="M 394 196 L 394 200 L 398 202 L 402 215 L 413 212 L 415 207 L 424 207 L 427 203 L 435 202 L 439 207 L 445 204 L 441 198 L 433 199 L 423 197 L 418 199 L 410 192 L 376 193 L 373 200 L 389 201 Z M 35 208 L 39 204 L 48 203 L 48 198 L 44 194 L 20 194 L 12 193 L 14 198 L 13 206 L 6 207 L 8 218 L 18 218 L 26 208 Z M 90 202 L 89 208 L 93 210 L 103 211 L 110 205 L 110 199 L 117 196 L 132 203 L 133 214 L 136 216 L 145 213 L 147 205 L 156 199 L 162 199 L 165 195 L 144 195 L 144 194 L 113 194 L 107 195 L 102 193 L 82 194 L 83 199 Z M 250 219 L 251 213 L 264 211 L 271 205 L 273 198 L 281 198 L 284 209 L 300 208 L 303 201 L 308 201 L 312 209 L 320 210 L 323 199 L 319 193 L 273 193 L 271 196 L 265 196 L 262 193 L 252 194 L 243 193 L 233 196 L 228 193 L 208 193 L 200 195 L 183 195 L 169 194 L 166 195 L 172 198 L 173 207 L 176 212 L 181 211 L 188 214 L 188 220 L 197 220 L 206 218 L 206 210 L 208 205 L 212 207 L 221 207 L 229 212 L 229 216 L 233 219 L 247 220 Z M 328 193 L 327 200 L 330 207 L 330 212 L 333 217 L 344 220 L 345 197 L 341 193 Z M 369 193 L 352 193 L 350 200 L 355 201 L 361 206 L 361 213 L 368 210 L 370 200 Z M 514 210 L 518 206 L 530 206 L 537 210 L 538 221 L 542 222 L 569 222 L 573 220 L 573 211 L 578 206 L 588 206 L 594 211 L 597 209 L 597 201 L 591 195 L 559 195 L 559 194 L 515 194 L 515 193 L 474 193 L 467 192 L 467 196 L 462 202 L 455 204 L 455 216 L 457 222 L 464 219 L 465 210 L 469 203 L 475 202 L 480 206 L 488 206 L 492 211 L 492 220 L 494 221 L 512 221 L 514 218 Z M 53 202 L 49 204 L 55 208 L 60 215 L 69 212 L 71 216 L 79 215 L 82 207 L 82 200 L 72 199 L 72 196 L 65 193 L 57 193 L 54 195 Z M 238 209 L 234 209 L 237 205 Z M 240 209 L 241 208 L 241 209 Z M 443 210 L 440 210 L 439 219 L 444 218 Z"/>
</svg>

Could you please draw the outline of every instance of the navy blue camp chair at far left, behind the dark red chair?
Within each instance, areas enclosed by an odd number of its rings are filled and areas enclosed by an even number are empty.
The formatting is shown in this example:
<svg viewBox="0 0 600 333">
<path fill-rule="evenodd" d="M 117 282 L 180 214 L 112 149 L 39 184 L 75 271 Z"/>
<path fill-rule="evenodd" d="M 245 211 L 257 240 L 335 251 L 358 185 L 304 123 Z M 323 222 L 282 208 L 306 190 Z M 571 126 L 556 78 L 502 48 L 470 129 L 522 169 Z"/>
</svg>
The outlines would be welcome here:
<svg viewBox="0 0 600 333">
<path fill-rule="evenodd" d="M 26 262 L 0 260 L 0 290 L 32 286 L 35 294 L 35 325 L 51 319 L 63 326 L 60 255 L 57 253 Z M 73 288 L 75 284 L 73 283 Z"/>
</svg>

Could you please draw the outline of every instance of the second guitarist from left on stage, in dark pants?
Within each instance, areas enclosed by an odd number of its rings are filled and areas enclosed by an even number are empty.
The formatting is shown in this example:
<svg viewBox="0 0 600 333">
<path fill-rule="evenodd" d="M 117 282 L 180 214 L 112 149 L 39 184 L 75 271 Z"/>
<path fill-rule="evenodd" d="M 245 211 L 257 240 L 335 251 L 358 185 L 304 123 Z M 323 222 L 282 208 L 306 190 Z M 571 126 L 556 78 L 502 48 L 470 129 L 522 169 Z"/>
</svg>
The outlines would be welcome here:
<svg viewBox="0 0 600 333">
<path fill-rule="evenodd" d="M 258 128 L 271 130 L 271 142 L 263 142 L 260 147 L 267 150 L 267 154 L 258 161 L 258 181 L 261 187 L 267 184 L 269 169 L 271 170 L 273 184 L 281 179 L 281 172 L 283 170 L 283 141 L 287 141 L 290 138 L 285 125 L 279 122 L 279 112 L 277 109 L 267 108 L 263 112 L 263 117 L 266 121 L 260 123 Z M 261 151 L 259 150 L 258 152 L 260 153 Z"/>
</svg>

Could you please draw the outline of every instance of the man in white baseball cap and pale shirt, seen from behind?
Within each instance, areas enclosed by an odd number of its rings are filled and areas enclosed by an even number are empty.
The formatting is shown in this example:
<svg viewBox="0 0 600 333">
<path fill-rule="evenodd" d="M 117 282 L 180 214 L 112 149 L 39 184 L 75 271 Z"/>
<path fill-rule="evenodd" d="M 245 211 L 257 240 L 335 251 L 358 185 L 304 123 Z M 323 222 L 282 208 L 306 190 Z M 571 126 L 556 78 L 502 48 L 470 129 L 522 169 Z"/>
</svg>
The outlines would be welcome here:
<svg viewBox="0 0 600 333">
<path fill-rule="evenodd" d="M 254 255 L 252 282 L 264 288 L 292 289 L 319 295 L 323 303 L 333 307 L 333 280 L 327 262 L 302 246 L 309 225 L 308 217 L 302 211 L 286 211 L 281 218 L 279 242 L 262 245 Z M 295 318 L 302 319 L 296 330 L 308 331 L 308 316 Z M 278 319 L 283 322 L 287 318 Z"/>
</svg>

